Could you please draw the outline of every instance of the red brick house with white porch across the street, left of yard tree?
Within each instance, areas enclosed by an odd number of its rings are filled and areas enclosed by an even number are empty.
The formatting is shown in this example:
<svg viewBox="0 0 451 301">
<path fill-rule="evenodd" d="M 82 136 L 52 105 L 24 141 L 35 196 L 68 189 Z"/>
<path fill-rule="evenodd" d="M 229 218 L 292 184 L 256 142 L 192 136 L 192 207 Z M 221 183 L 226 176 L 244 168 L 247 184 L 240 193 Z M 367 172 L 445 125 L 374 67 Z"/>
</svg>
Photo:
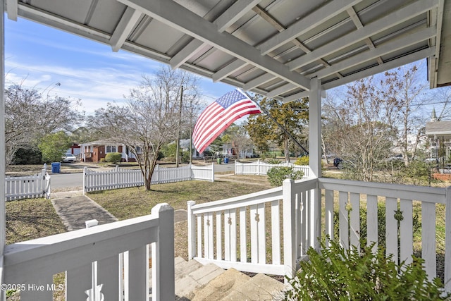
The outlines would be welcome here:
<svg viewBox="0 0 451 301">
<path fill-rule="evenodd" d="M 80 147 L 81 159 L 84 162 L 98 163 L 102 158 L 106 157 L 106 154 L 110 152 L 121 153 L 123 162 L 136 162 L 135 154 L 133 154 L 128 147 L 113 140 L 86 142 L 82 143 Z M 140 152 L 140 147 L 137 147 L 137 150 Z"/>
</svg>

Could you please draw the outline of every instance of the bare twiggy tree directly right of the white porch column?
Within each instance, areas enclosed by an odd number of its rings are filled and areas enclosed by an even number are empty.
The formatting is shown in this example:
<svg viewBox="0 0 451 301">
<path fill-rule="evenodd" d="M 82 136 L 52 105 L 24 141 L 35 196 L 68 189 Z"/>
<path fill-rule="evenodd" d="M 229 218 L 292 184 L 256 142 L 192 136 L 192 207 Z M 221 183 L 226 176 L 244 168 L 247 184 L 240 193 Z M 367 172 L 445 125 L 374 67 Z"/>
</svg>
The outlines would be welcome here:
<svg viewBox="0 0 451 301">
<path fill-rule="evenodd" d="M 393 106 L 383 102 L 373 78 L 347 87 L 344 99 L 326 100 L 330 149 L 342 156 L 358 180 L 372 181 L 376 166 L 390 154 L 395 128 Z"/>
</svg>

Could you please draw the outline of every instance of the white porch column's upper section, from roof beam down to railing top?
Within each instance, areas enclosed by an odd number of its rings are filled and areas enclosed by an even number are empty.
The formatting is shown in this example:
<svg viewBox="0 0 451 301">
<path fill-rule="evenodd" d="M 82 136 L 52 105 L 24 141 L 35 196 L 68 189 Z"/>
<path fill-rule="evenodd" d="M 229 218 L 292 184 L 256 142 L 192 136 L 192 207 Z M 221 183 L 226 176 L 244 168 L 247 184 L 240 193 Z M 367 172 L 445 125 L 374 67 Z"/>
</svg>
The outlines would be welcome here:
<svg viewBox="0 0 451 301">
<path fill-rule="evenodd" d="M 321 178 L 321 80 L 312 78 L 309 93 L 309 165 L 311 175 Z"/>
</svg>

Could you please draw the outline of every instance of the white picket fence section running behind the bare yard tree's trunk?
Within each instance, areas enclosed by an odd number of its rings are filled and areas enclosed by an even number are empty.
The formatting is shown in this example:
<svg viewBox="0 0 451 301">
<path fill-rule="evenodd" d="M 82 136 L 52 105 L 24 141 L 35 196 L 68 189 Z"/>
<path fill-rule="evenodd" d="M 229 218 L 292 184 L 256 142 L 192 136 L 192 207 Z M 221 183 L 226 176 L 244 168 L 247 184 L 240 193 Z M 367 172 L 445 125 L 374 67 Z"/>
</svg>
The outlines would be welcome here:
<svg viewBox="0 0 451 301">
<path fill-rule="evenodd" d="M 155 166 L 151 184 L 181 182 L 185 180 L 214 181 L 214 165 L 164 168 Z M 111 190 L 144 185 L 140 169 L 113 168 L 109 171 L 95 171 L 85 167 L 83 173 L 83 191 Z"/>
</svg>

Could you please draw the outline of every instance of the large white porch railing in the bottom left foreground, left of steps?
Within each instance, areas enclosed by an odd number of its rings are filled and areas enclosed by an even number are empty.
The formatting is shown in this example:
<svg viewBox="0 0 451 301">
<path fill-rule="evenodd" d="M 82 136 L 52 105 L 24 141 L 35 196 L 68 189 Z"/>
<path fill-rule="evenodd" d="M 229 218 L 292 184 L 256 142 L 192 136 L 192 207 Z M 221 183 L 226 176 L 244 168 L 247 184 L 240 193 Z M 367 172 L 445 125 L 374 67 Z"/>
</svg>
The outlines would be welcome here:
<svg viewBox="0 0 451 301">
<path fill-rule="evenodd" d="M 53 276 L 66 271 L 67 301 L 149 300 L 151 244 L 152 300 L 174 300 L 173 237 L 173 209 L 159 204 L 148 216 L 18 242 L 5 247 L 4 283 L 18 283 L 22 301 L 53 300 Z"/>
</svg>

